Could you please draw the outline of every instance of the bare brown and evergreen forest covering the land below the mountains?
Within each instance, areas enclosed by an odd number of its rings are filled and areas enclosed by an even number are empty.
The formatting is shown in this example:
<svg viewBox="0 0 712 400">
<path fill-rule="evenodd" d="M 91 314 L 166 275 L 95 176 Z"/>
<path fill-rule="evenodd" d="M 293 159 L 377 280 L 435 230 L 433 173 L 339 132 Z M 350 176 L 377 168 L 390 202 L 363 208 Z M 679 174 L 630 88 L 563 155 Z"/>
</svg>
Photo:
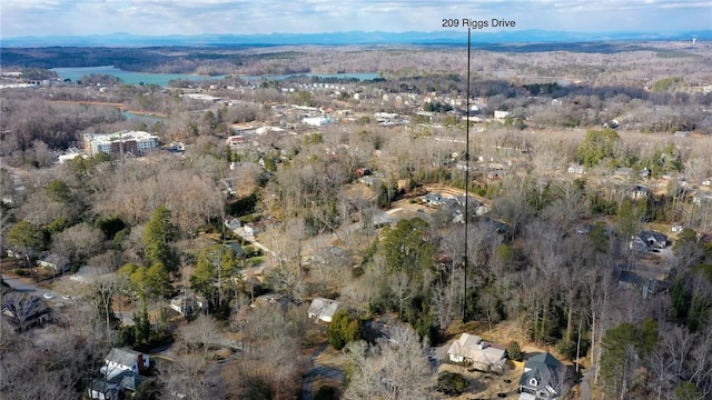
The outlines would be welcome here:
<svg viewBox="0 0 712 400">
<path fill-rule="evenodd" d="M 136 56 L 225 80 L 0 91 L 3 281 L 46 292 L 2 288 L 0 393 L 87 396 L 128 347 L 140 399 L 495 396 L 438 353 L 474 332 L 555 354 L 562 399 L 712 396 L 709 49 L 477 51 L 469 84 L 462 49 L 283 50 Z M 238 77 L 376 59 L 374 81 Z M 58 162 L 125 130 L 165 146 Z M 315 299 L 342 308 L 314 322 Z"/>
</svg>

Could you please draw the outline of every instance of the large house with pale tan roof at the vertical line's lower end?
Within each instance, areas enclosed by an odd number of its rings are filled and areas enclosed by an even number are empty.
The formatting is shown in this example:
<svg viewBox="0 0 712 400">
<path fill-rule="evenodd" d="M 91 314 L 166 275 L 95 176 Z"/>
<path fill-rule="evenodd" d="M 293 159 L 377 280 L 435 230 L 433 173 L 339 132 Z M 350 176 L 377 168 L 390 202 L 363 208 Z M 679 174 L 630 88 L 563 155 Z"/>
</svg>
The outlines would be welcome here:
<svg viewBox="0 0 712 400">
<path fill-rule="evenodd" d="M 484 341 L 476 334 L 463 333 L 447 349 L 453 362 L 469 362 L 473 368 L 483 371 L 503 372 L 506 350 Z"/>
</svg>

